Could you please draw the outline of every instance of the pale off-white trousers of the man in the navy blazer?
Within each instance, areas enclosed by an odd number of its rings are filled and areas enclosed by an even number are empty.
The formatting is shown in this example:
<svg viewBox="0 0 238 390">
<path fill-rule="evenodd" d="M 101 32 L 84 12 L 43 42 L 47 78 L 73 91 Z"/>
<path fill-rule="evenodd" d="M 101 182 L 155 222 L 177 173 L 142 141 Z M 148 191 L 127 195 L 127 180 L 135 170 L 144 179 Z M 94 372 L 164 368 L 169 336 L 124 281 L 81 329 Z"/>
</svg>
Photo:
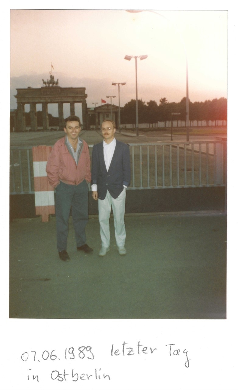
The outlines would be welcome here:
<svg viewBox="0 0 238 390">
<path fill-rule="evenodd" d="M 106 198 L 104 200 L 98 200 L 100 236 L 102 240 L 102 246 L 106 248 L 109 248 L 110 246 L 109 218 L 111 214 L 111 208 L 113 209 L 116 245 L 125 245 L 125 193 L 126 189 L 124 187 L 120 195 L 114 199 L 107 191 Z"/>
</svg>

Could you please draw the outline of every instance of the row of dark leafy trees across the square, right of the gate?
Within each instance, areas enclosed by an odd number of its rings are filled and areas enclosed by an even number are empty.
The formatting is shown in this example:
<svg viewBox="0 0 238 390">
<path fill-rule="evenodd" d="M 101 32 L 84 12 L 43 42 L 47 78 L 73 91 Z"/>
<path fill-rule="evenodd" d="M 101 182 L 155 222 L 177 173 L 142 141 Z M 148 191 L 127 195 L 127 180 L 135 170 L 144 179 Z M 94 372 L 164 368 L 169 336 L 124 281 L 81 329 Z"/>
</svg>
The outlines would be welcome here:
<svg viewBox="0 0 238 390">
<path fill-rule="evenodd" d="M 120 110 L 121 123 L 132 124 L 136 126 L 136 100 L 131 99 Z M 169 103 L 166 97 L 162 97 L 159 101 L 159 106 L 155 100 L 150 100 L 147 103 L 138 100 L 138 117 L 139 123 L 149 123 L 152 127 L 157 122 L 177 121 L 177 126 L 182 126 L 182 122 L 186 121 L 186 97 L 179 103 Z M 206 100 L 205 102 L 189 101 L 189 120 L 190 126 L 198 125 L 201 121 L 206 121 L 207 126 L 209 122 L 222 121 L 224 125 L 227 122 L 227 99 L 221 97 L 220 99 Z"/>
</svg>

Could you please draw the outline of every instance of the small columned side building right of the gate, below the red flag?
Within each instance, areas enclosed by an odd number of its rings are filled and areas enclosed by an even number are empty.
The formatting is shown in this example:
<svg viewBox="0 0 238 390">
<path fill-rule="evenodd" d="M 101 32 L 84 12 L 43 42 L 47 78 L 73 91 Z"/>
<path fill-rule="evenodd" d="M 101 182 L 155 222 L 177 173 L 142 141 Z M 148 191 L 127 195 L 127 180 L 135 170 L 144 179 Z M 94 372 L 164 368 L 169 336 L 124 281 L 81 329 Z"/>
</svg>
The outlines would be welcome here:
<svg viewBox="0 0 238 390">
<path fill-rule="evenodd" d="M 118 106 L 109 103 L 95 108 L 88 108 L 88 129 L 100 129 L 101 123 L 106 119 L 112 119 L 118 128 Z"/>
</svg>

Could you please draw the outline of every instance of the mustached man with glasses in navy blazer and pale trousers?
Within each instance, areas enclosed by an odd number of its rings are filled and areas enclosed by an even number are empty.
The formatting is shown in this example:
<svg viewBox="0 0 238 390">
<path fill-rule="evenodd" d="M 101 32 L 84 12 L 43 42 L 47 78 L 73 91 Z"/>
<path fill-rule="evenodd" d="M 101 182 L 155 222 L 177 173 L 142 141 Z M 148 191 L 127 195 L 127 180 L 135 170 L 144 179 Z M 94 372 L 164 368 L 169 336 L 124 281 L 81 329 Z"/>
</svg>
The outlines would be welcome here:
<svg viewBox="0 0 238 390">
<path fill-rule="evenodd" d="M 125 255 L 125 196 L 130 184 L 129 146 L 114 137 L 115 122 L 106 120 L 101 125 L 103 142 L 93 146 L 92 196 L 98 200 L 102 247 L 105 256 L 110 248 L 109 218 L 113 209 L 115 238 L 118 252 Z"/>
</svg>

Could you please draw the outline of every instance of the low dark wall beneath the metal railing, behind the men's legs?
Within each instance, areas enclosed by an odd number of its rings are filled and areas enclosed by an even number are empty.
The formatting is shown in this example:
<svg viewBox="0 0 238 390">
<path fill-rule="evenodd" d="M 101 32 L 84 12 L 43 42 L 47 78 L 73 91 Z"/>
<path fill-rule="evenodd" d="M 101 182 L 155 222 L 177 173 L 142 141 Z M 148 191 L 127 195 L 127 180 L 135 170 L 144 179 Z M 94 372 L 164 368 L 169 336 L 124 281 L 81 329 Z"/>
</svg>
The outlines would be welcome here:
<svg viewBox="0 0 238 390">
<path fill-rule="evenodd" d="M 176 211 L 212 211 L 225 209 L 225 187 L 159 188 L 155 190 L 128 190 L 127 214 Z M 97 215 L 97 202 L 88 194 L 88 213 Z M 10 220 L 34 218 L 34 194 L 10 195 Z"/>
</svg>

